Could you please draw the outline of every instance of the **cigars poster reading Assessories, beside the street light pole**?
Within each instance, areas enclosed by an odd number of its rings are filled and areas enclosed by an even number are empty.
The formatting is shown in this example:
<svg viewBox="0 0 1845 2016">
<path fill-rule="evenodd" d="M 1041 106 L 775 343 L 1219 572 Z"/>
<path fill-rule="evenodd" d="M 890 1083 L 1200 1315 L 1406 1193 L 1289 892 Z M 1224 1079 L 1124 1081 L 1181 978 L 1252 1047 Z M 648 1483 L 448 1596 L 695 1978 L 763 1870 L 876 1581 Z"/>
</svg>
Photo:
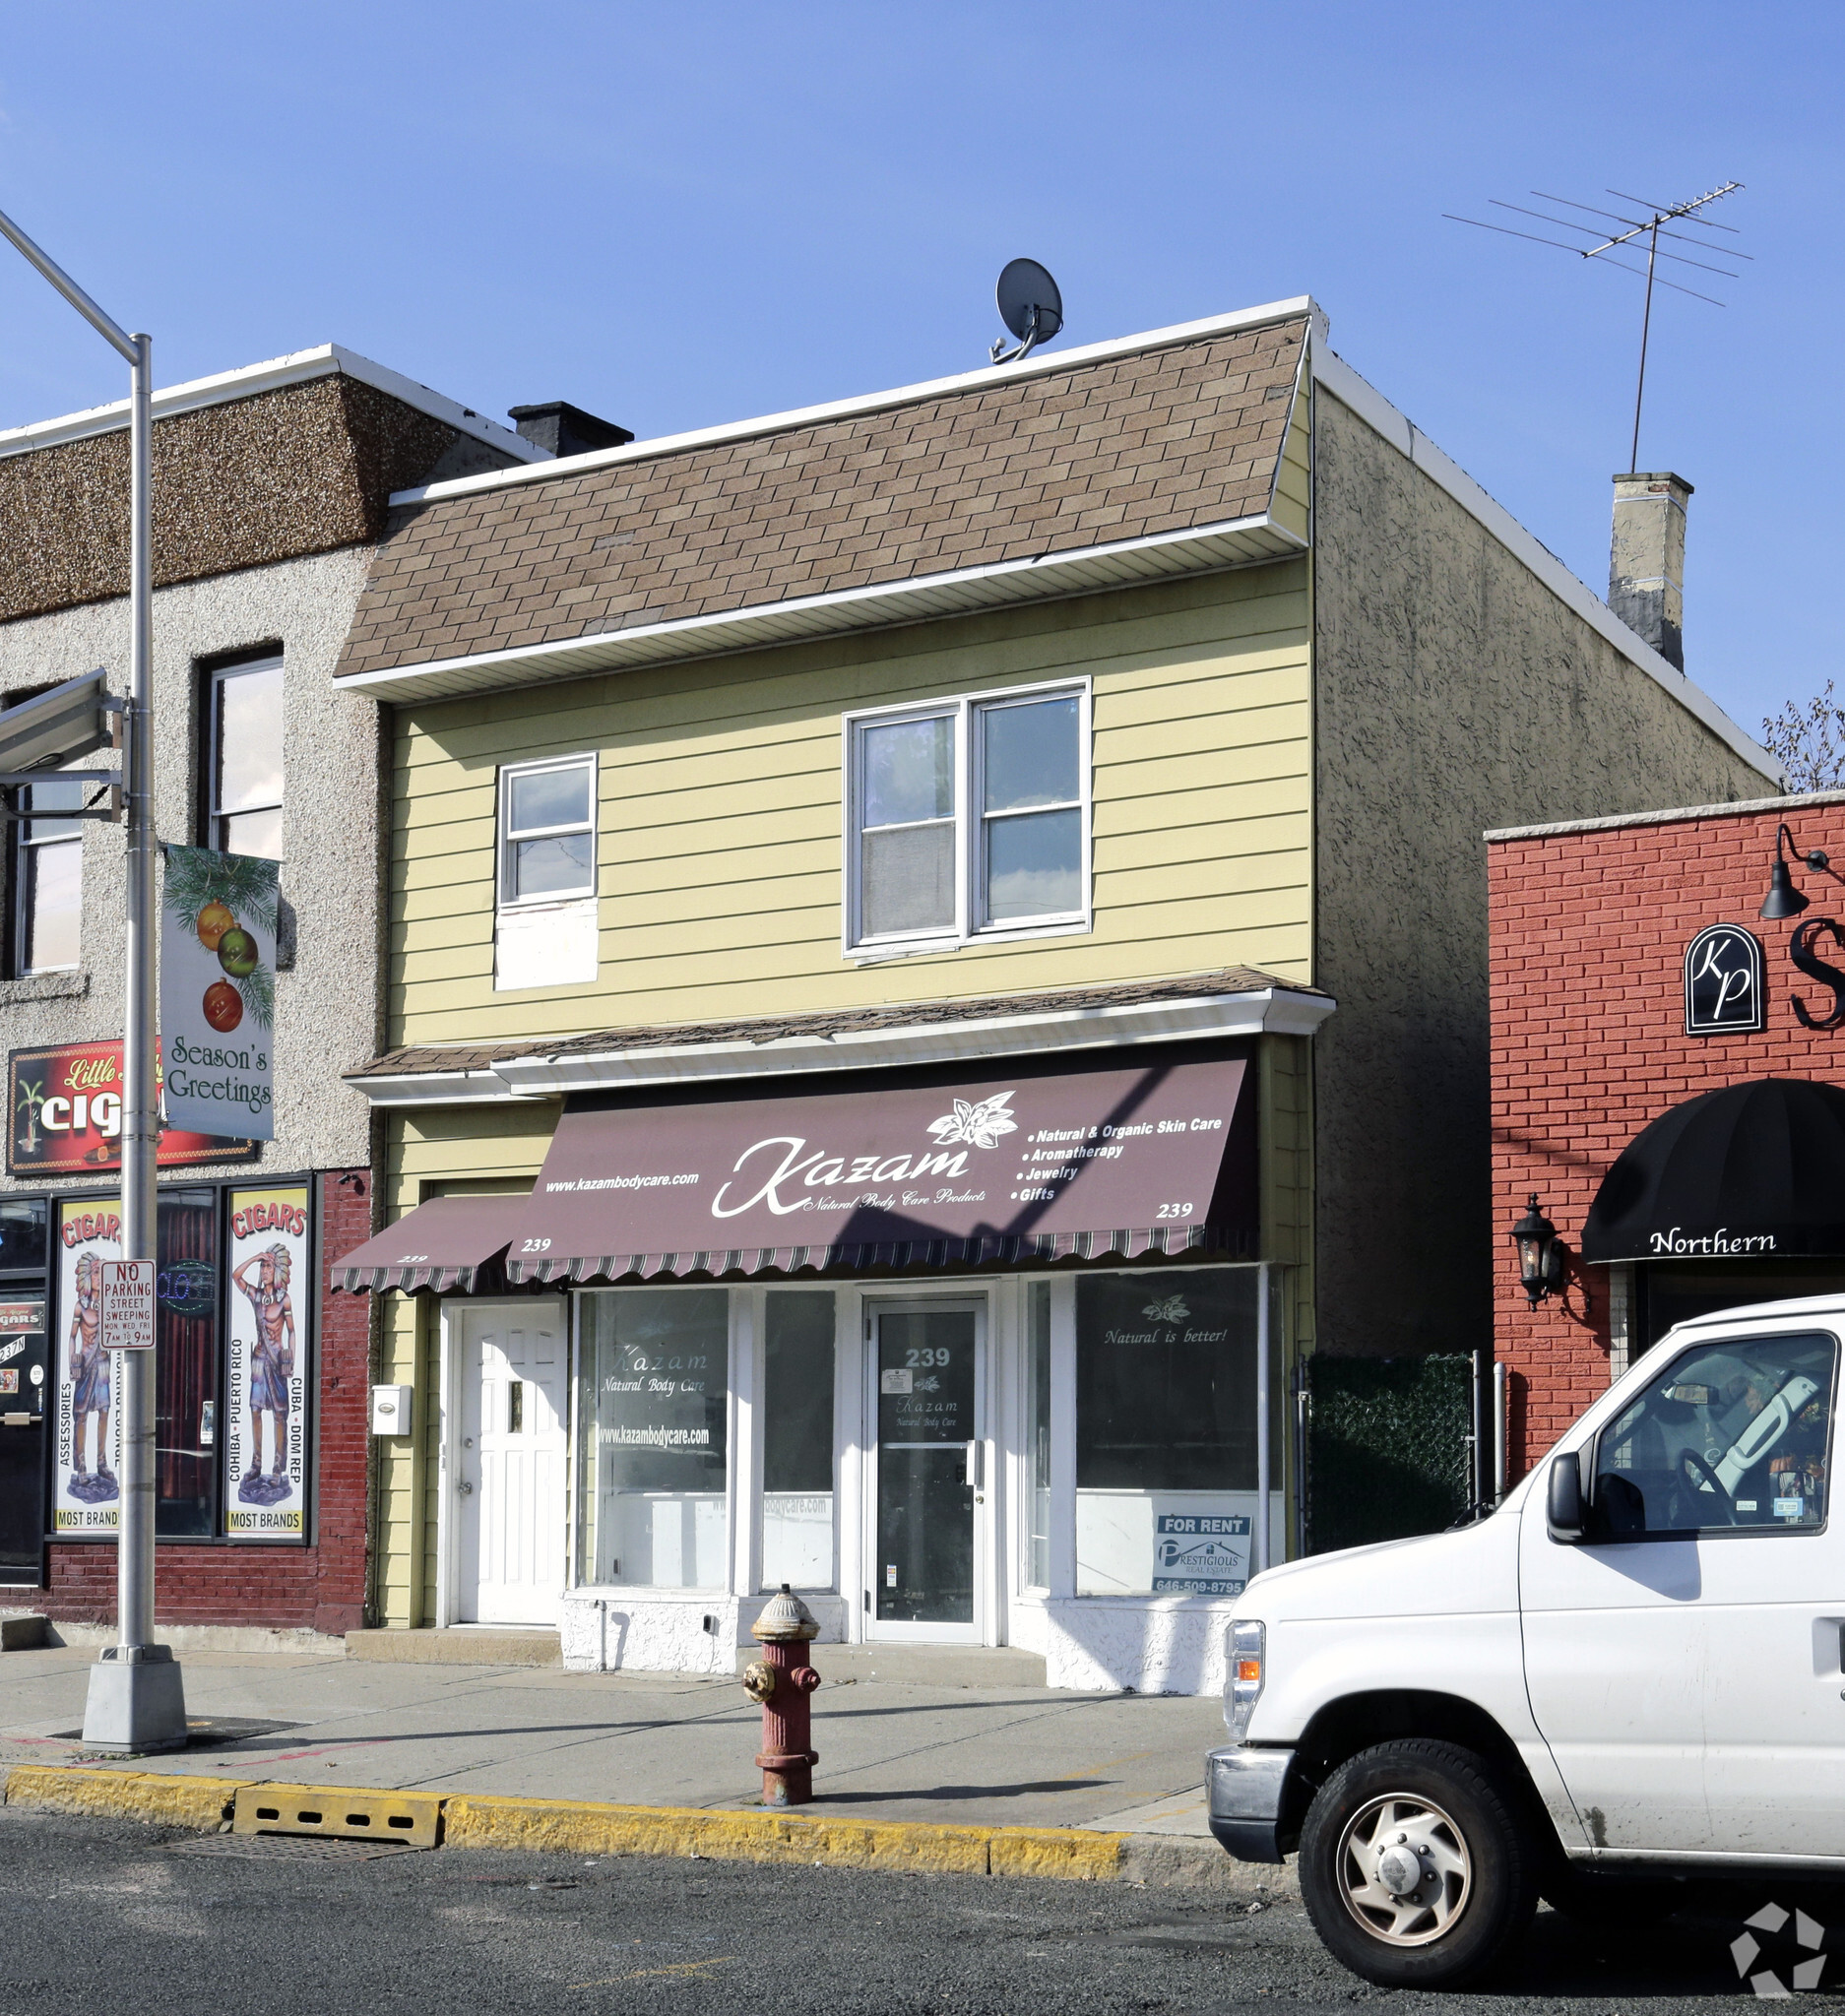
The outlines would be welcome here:
<svg viewBox="0 0 1845 2016">
<path fill-rule="evenodd" d="M 103 1349 L 103 1260 L 121 1258 L 121 1198 L 58 1204 L 58 1447 L 52 1532 L 113 1538 L 121 1506 L 121 1409 Z"/>
</svg>

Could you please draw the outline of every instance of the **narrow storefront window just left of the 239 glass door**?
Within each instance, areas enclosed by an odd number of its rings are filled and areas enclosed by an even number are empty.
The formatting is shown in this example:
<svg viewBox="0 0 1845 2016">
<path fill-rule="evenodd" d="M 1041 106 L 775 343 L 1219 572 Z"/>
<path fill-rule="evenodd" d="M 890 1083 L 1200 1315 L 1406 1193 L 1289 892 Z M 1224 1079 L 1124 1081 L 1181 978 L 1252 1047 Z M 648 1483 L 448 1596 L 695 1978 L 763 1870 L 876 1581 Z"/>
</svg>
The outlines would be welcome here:
<svg viewBox="0 0 1845 2016">
<path fill-rule="evenodd" d="M 833 1587 L 833 1294 L 770 1294 L 762 1351 L 762 1587 Z"/>
</svg>

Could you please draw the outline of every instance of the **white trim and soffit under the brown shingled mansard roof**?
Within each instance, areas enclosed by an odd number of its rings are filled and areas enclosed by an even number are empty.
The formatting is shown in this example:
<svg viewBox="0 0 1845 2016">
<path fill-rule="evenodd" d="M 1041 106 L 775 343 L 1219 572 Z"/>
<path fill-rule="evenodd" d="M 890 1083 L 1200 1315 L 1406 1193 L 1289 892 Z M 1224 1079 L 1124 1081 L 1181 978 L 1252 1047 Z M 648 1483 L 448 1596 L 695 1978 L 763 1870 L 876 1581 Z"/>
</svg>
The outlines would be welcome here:
<svg viewBox="0 0 1845 2016">
<path fill-rule="evenodd" d="M 669 623 L 635 623 L 631 629 L 595 631 L 587 637 L 555 637 L 550 643 L 512 645 L 472 657 L 357 671 L 335 679 L 333 685 L 337 691 L 365 694 L 371 700 L 452 700 L 458 694 L 581 679 L 595 671 L 625 671 L 633 665 L 714 657 L 720 651 L 798 643 L 843 631 L 924 623 L 930 617 L 966 615 L 972 609 L 1008 603 L 1091 595 L 1097 589 L 1133 587 L 1139 581 L 1161 581 L 1172 575 L 1282 560 L 1297 552 L 1307 552 L 1307 540 L 1266 514 L 1228 518 L 1222 524 L 1149 532 L 1143 538 L 1081 546 L 1075 552 L 992 560 L 948 575 L 881 581 L 863 589 L 835 589 L 829 595 L 718 609 L 704 617 L 675 617 Z"/>
</svg>

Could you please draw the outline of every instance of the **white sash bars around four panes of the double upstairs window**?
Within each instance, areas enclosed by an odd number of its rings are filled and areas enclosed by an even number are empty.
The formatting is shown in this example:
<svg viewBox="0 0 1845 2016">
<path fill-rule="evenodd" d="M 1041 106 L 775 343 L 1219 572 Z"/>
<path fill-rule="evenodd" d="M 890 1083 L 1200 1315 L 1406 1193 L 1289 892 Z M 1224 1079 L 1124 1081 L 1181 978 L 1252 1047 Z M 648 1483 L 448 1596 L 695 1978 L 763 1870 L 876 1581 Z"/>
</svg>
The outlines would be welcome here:
<svg viewBox="0 0 1845 2016">
<path fill-rule="evenodd" d="M 1006 708 L 1028 708 L 1040 706 L 1053 700 L 1075 700 L 1075 770 L 1077 770 L 1077 796 L 1044 800 L 1042 804 L 1018 804 L 1000 806 L 986 810 L 986 716 Z M 954 812 L 946 818 L 913 818 L 913 821 L 891 821 L 887 825 L 871 825 L 865 818 L 865 736 L 875 728 L 887 728 L 895 722 L 928 722 L 928 720 L 952 720 L 954 722 Z M 891 710 L 881 714 L 867 714 L 859 718 L 849 718 L 849 740 L 847 740 L 847 950 L 871 950 L 885 946 L 932 946 L 932 943 L 966 943 L 976 937 L 986 935 L 1018 935 L 1032 933 L 1040 929 L 1069 929 L 1071 925 L 1085 925 L 1089 921 L 1089 889 L 1091 889 L 1091 794 L 1089 794 L 1089 687 L 1087 683 L 1071 685 L 1047 685 L 1047 687 L 1024 687 L 1008 694 L 994 696 L 966 696 L 956 700 L 952 706 L 924 706 L 907 710 Z M 992 857 L 992 835 L 1004 821 L 1018 818 L 1042 818 L 1044 814 L 1069 814 L 1075 812 L 1077 827 L 1077 863 L 1075 863 L 1075 883 L 1077 901 L 1065 909 L 1028 911 L 1028 913 L 992 913 L 990 901 L 990 857 Z M 905 927 L 893 931 L 873 931 L 867 917 L 865 899 L 865 841 L 871 835 L 889 833 L 919 833 L 928 829 L 954 829 L 954 921 L 928 925 L 928 927 Z"/>
</svg>

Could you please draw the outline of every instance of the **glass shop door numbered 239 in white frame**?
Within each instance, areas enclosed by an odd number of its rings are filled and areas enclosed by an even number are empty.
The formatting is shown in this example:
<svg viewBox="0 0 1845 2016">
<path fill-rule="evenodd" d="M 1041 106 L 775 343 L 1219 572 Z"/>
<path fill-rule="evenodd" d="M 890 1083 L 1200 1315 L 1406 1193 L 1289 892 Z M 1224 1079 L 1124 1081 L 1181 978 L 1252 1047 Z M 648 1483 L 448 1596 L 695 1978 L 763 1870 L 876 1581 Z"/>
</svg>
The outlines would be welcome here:
<svg viewBox="0 0 1845 2016">
<path fill-rule="evenodd" d="M 980 1641 L 984 1302 L 867 1304 L 867 1637 Z"/>
</svg>

